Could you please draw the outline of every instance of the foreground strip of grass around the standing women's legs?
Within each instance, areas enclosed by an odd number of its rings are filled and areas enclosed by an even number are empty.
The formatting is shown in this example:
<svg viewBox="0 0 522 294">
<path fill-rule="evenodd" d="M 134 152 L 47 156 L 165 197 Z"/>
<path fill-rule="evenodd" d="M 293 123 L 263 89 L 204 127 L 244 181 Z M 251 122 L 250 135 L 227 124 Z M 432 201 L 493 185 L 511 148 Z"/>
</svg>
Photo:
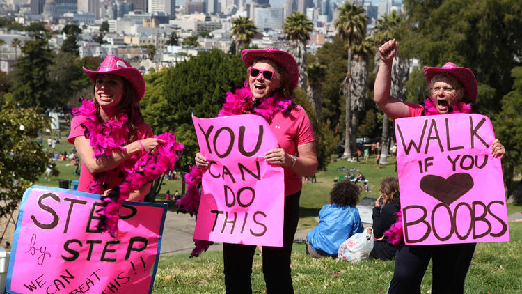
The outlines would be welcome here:
<svg viewBox="0 0 522 294">
<path fill-rule="evenodd" d="M 509 224 L 509 229 L 511 242 L 477 245 L 465 293 L 521 293 L 522 222 Z M 254 293 L 264 293 L 261 258 L 254 257 Z M 295 293 L 386 293 L 394 266 L 394 261 L 347 263 L 330 258 L 313 259 L 306 256 L 304 245 L 300 244 L 294 245 L 292 252 Z M 159 258 L 153 293 L 224 293 L 223 287 L 221 252 L 205 252 L 190 259 L 189 254 Z M 431 265 L 422 280 L 422 293 L 431 293 Z"/>
</svg>

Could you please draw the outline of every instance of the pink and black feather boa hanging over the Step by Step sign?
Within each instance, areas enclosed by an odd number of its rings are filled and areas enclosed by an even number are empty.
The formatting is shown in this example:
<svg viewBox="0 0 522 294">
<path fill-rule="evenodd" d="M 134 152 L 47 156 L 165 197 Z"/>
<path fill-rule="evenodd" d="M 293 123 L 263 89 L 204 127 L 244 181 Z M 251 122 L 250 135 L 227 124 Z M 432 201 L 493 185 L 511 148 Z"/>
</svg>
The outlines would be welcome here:
<svg viewBox="0 0 522 294">
<path fill-rule="evenodd" d="M 96 116 L 96 108 L 92 101 L 82 98 L 81 107 L 72 109 L 74 115 L 86 117 L 82 127 L 85 130 L 85 137 L 90 140 L 93 147 L 93 157 L 109 157 L 114 150 L 125 150 L 129 128 L 125 123 L 126 114 L 118 114 L 118 118 L 107 123 L 102 123 Z M 139 109 L 136 111 L 136 121 L 141 121 Z M 118 233 L 118 210 L 122 203 L 129 198 L 129 195 L 146 183 L 150 183 L 167 171 L 174 169 L 177 162 L 177 154 L 183 150 L 183 144 L 177 143 L 173 133 L 164 133 L 155 138 L 163 139 L 165 144 L 157 146 L 154 152 L 132 155 L 120 167 L 104 173 L 95 174 L 95 180 L 90 185 L 90 192 L 102 194 L 106 187 L 106 180 L 113 176 L 120 176 L 123 173 L 124 180 L 120 185 L 113 187 L 109 195 L 102 196 L 104 208 L 98 210 L 100 231 L 109 231 L 114 237 Z"/>
</svg>

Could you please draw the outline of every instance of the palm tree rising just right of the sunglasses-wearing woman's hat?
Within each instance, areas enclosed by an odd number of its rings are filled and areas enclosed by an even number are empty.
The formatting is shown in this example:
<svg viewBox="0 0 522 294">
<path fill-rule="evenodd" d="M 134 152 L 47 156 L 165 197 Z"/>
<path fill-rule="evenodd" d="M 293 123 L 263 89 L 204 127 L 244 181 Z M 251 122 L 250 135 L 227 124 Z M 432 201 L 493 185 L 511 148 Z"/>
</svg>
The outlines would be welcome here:
<svg viewBox="0 0 522 294">
<path fill-rule="evenodd" d="M 294 56 L 299 67 L 299 87 L 306 89 L 306 41 L 310 40 L 313 24 L 303 13 L 288 15 L 283 24 L 288 40 L 288 53 Z"/>
</svg>

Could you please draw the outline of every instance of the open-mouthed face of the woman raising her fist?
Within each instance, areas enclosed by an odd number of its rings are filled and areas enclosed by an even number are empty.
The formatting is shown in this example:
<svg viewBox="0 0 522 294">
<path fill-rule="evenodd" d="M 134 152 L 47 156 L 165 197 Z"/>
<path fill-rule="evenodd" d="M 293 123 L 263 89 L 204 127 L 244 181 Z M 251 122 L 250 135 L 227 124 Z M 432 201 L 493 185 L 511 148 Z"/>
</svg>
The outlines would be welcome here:
<svg viewBox="0 0 522 294">
<path fill-rule="evenodd" d="M 456 107 L 464 96 L 464 88 L 455 77 L 450 75 L 436 75 L 430 83 L 429 91 L 435 102 L 435 107 L 439 114 L 450 112 L 450 106 Z"/>
</svg>

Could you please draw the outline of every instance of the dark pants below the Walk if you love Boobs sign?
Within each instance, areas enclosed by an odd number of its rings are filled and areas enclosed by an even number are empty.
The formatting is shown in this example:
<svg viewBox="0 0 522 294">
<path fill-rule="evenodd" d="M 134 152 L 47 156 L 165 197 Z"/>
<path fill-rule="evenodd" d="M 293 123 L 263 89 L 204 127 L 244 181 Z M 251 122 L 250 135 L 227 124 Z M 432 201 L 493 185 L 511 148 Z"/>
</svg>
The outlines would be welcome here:
<svg viewBox="0 0 522 294">
<path fill-rule="evenodd" d="M 388 294 L 419 294 L 430 258 L 433 258 L 432 294 L 464 293 L 464 281 L 475 253 L 475 245 L 402 245 L 395 254 L 395 272 Z"/>
</svg>

